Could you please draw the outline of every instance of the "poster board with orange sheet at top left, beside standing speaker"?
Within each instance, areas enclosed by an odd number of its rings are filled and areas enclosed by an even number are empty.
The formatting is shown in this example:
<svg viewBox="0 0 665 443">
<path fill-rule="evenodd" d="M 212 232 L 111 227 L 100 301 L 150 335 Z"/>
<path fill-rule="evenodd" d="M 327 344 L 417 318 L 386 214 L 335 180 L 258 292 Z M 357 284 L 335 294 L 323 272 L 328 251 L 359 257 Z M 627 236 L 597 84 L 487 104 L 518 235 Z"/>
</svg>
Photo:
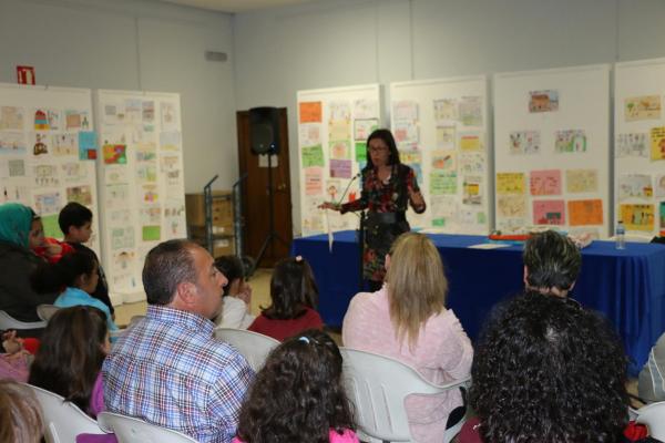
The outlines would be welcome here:
<svg viewBox="0 0 665 443">
<path fill-rule="evenodd" d="M 378 84 L 298 91 L 300 222 L 303 235 L 357 229 L 358 216 L 318 209 L 324 202 L 360 197 L 358 172 L 366 142 L 381 126 Z M 356 178 L 354 178 L 356 177 Z"/>
</svg>

